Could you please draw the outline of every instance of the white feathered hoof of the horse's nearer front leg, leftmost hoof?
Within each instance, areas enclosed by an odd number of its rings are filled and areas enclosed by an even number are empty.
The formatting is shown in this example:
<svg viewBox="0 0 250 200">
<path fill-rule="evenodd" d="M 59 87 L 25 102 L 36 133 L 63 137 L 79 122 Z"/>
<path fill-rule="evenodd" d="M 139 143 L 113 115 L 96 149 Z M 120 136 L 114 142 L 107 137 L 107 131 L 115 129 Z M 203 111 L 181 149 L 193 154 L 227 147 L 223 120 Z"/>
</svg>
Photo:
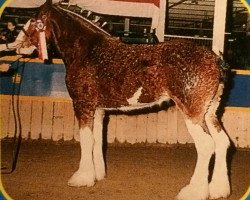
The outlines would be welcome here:
<svg viewBox="0 0 250 200">
<path fill-rule="evenodd" d="M 95 173 L 93 171 L 82 172 L 78 170 L 69 179 L 68 185 L 72 187 L 91 187 L 95 185 Z"/>
</svg>

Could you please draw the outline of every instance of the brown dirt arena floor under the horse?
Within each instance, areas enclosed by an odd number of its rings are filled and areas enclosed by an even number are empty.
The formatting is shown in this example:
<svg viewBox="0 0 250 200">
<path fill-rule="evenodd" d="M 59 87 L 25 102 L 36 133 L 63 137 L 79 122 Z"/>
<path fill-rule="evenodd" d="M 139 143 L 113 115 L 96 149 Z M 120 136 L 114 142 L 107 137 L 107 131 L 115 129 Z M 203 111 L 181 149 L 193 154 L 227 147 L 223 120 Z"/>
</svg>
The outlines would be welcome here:
<svg viewBox="0 0 250 200">
<path fill-rule="evenodd" d="M 11 143 L 3 140 L 3 164 L 10 155 Z M 173 200 L 190 180 L 196 151 L 193 145 L 108 145 L 107 178 L 90 188 L 69 187 L 67 181 L 77 170 L 79 158 L 78 143 L 25 141 L 16 171 L 2 175 L 2 183 L 15 200 Z M 249 169 L 249 149 L 238 149 L 231 159 L 228 199 L 237 200 L 246 192 Z"/>
</svg>

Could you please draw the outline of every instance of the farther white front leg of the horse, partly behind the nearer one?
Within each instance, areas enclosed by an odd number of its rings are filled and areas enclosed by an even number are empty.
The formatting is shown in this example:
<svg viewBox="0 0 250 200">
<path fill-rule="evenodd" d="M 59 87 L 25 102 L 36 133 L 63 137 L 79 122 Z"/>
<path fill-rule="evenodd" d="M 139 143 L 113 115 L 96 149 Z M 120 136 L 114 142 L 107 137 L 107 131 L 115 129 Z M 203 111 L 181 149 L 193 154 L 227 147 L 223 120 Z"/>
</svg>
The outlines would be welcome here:
<svg viewBox="0 0 250 200">
<path fill-rule="evenodd" d="M 94 165 L 95 165 L 95 174 L 97 180 L 104 179 L 105 173 L 105 163 L 103 158 L 103 118 L 104 118 L 104 110 L 97 109 L 95 112 L 94 118 L 94 149 L 93 149 L 93 156 L 94 156 Z"/>
</svg>

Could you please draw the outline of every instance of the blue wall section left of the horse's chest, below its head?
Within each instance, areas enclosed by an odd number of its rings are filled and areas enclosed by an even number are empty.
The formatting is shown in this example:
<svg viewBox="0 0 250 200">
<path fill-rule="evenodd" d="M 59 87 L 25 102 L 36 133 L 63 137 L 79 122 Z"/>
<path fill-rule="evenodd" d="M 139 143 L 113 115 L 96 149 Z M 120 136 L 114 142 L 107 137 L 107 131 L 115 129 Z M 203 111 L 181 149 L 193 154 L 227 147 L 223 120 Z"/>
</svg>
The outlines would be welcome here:
<svg viewBox="0 0 250 200">
<path fill-rule="evenodd" d="M 16 62 L 8 73 L 1 73 L 1 94 L 18 93 L 20 84 L 13 84 L 13 75 L 16 71 L 19 75 L 22 74 L 23 78 L 20 95 L 69 98 L 64 81 L 65 67 L 63 64 L 45 65 L 35 62 Z"/>
</svg>

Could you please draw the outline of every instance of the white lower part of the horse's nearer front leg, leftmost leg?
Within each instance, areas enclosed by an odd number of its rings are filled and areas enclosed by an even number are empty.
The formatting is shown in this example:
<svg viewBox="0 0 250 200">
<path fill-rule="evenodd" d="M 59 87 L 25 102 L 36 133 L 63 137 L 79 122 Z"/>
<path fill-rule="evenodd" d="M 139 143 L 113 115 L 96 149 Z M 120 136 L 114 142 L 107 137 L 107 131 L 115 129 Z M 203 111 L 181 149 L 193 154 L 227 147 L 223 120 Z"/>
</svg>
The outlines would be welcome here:
<svg viewBox="0 0 250 200">
<path fill-rule="evenodd" d="M 95 168 L 93 163 L 93 133 L 89 127 L 80 129 L 81 160 L 79 169 L 70 178 L 69 186 L 93 186 L 95 184 Z"/>
</svg>

